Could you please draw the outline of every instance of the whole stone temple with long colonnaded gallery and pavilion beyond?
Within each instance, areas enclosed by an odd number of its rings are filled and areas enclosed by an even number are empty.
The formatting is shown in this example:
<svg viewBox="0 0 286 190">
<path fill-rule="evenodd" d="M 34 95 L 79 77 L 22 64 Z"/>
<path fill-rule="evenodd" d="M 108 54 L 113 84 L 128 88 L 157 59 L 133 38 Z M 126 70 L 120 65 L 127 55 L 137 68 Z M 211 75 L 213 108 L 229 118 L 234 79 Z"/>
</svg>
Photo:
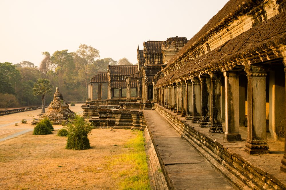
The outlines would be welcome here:
<svg viewBox="0 0 286 190">
<path fill-rule="evenodd" d="M 104 122 L 113 120 L 112 127 L 120 116 L 107 110 L 155 109 L 214 167 L 222 166 L 223 175 L 252 189 L 285 189 L 285 37 L 285 0 L 230 0 L 190 40 L 144 42 L 138 65 L 95 75 L 85 117 L 96 126 L 106 110 Z M 102 83 L 108 83 L 107 100 L 101 100 Z"/>
</svg>

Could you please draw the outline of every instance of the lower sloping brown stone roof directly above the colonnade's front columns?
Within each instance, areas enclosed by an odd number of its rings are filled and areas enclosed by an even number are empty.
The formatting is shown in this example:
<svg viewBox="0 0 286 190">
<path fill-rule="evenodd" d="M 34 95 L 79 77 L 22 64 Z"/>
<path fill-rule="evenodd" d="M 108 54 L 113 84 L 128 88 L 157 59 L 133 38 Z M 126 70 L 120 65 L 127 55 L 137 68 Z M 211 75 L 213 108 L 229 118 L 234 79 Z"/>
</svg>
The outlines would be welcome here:
<svg viewBox="0 0 286 190">
<path fill-rule="evenodd" d="M 250 28 L 222 46 L 187 62 L 179 70 L 172 71 L 159 79 L 157 84 L 199 74 L 207 69 L 220 70 L 226 64 L 240 65 L 247 57 L 252 57 L 247 60 L 250 64 L 279 58 L 279 54 L 274 54 L 273 49 L 279 48 L 280 44 L 286 44 L 285 18 L 286 11 Z M 272 53 L 263 56 L 267 52 Z"/>
</svg>

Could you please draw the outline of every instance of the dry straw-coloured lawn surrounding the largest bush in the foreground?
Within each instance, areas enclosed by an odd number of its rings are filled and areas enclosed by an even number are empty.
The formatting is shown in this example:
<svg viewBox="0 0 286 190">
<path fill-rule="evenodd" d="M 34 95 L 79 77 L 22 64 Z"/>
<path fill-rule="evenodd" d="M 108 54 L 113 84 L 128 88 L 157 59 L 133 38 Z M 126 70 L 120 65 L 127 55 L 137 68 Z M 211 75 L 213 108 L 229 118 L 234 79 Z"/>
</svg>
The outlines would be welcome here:
<svg viewBox="0 0 286 190">
<path fill-rule="evenodd" d="M 32 135 L 0 142 L 0 189 L 119 189 L 118 182 L 136 175 L 132 164 L 110 165 L 130 150 L 137 131 L 93 129 L 91 149 L 67 150 L 66 137 Z M 114 162 L 113 162 L 114 163 Z"/>
</svg>

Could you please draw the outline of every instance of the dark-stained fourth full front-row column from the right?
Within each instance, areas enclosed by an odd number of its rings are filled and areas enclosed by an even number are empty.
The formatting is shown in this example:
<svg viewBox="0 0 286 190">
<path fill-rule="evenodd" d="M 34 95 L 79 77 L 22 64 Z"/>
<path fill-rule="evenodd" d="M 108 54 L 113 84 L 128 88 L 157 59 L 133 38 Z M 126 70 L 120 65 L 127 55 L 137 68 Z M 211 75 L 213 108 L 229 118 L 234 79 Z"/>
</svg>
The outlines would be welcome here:
<svg viewBox="0 0 286 190">
<path fill-rule="evenodd" d="M 201 119 L 200 127 L 208 127 L 210 122 L 210 78 L 208 76 L 200 76 L 200 94 L 201 94 Z"/>
</svg>

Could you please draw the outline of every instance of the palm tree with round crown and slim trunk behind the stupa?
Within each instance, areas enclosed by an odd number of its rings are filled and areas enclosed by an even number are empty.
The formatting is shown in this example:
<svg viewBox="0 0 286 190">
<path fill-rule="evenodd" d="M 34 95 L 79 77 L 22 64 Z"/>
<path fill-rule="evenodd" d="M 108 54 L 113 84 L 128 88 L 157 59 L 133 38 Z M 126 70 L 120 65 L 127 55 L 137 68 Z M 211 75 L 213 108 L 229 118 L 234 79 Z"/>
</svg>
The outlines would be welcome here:
<svg viewBox="0 0 286 190">
<path fill-rule="evenodd" d="M 48 79 L 38 79 L 37 82 L 34 84 L 34 95 L 39 96 L 42 95 L 42 112 L 45 113 L 45 93 L 51 92 L 51 81 Z"/>
</svg>

